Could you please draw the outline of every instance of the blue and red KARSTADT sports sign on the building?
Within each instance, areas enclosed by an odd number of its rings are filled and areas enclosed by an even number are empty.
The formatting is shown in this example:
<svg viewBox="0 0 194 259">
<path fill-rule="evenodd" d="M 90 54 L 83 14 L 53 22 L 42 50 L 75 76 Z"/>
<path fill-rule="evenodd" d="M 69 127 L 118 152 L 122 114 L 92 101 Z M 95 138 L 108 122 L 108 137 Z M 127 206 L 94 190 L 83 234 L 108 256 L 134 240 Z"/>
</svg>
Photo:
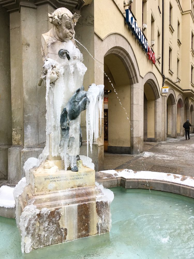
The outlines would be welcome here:
<svg viewBox="0 0 194 259">
<path fill-rule="evenodd" d="M 132 13 L 130 12 L 130 10 L 126 9 L 125 11 L 126 11 L 126 23 L 130 27 L 135 37 L 138 39 L 144 51 L 147 53 L 149 60 L 151 60 L 152 63 L 155 64 L 156 63 L 155 53 L 152 51 L 152 48 L 149 46 L 145 35 L 138 27 L 138 24 L 135 18 L 133 17 Z"/>
</svg>

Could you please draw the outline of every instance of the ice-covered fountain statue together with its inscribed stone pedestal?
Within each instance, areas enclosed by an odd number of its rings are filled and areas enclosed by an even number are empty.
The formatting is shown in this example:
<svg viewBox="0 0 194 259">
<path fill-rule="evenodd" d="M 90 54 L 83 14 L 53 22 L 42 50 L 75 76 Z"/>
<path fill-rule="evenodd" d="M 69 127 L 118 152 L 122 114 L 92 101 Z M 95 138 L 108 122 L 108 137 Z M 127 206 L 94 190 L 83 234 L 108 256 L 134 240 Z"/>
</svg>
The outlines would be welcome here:
<svg viewBox="0 0 194 259">
<path fill-rule="evenodd" d="M 95 185 L 95 171 L 79 157 L 82 145 L 80 114 L 86 109 L 87 148 L 99 134 L 103 85 L 86 92 L 87 70 L 74 41 L 80 15 L 59 8 L 42 34 L 43 73 L 46 86 L 46 146 L 38 159 L 25 162 L 26 178 L 14 189 L 16 222 L 21 249 L 49 246 L 110 231 L 113 192 Z"/>
</svg>

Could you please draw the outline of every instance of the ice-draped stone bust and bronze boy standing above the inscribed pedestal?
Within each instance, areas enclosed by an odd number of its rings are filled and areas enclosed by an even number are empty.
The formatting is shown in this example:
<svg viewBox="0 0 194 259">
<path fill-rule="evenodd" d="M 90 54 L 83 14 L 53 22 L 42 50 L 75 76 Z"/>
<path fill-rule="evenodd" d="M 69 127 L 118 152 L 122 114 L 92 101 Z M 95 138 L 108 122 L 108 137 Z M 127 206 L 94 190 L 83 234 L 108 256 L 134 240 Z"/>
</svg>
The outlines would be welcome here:
<svg viewBox="0 0 194 259">
<path fill-rule="evenodd" d="M 74 26 L 79 18 L 80 15 L 77 13 L 73 15 L 66 8 L 55 10 L 49 14 L 53 28 L 42 34 L 41 38 L 44 61 L 41 79 L 46 80 L 47 89 L 47 145 L 44 153 L 47 154 L 49 150 L 48 155 L 51 160 L 54 158 L 57 160 L 60 156 L 64 161 L 65 170 L 70 164 L 72 171 L 78 171 L 76 160 L 79 159 L 79 148 L 82 145 L 79 115 L 86 109 L 87 103 L 89 105 L 90 98 L 92 102 L 94 98 L 95 101 L 97 99 L 99 107 L 96 108 L 97 110 L 100 108 L 101 113 L 103 97 L 103 85 L 93 84 L 88 92 L 84 91 L 82 85 L 87 68 L 82 63 L 83 55 L 74 41 Z M 98 118 L 92 118 L 93 114 L 89 116 L 87 113 L 87 115 L 98 123 Z M 95 127 L 88 127 L 88 132 L 93 138 L 91 130 L 95 132 Z"/>
</svg>

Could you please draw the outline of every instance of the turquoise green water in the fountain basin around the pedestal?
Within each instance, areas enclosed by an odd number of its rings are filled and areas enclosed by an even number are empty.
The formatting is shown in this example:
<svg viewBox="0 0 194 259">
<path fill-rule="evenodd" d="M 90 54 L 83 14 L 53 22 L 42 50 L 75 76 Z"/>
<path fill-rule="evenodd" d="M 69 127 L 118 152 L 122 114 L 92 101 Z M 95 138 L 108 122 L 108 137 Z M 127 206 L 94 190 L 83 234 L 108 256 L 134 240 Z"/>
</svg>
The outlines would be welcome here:
<svg viewBox="0 0 194 259">
<path fill-rule="evenodd" d="M 0 217 L 0 258 L 194 258 L 194 199 L 160 191 L 111 190 L 115 198 L 110 233 L 22 254 L 15 220 Z"/>
</svg>

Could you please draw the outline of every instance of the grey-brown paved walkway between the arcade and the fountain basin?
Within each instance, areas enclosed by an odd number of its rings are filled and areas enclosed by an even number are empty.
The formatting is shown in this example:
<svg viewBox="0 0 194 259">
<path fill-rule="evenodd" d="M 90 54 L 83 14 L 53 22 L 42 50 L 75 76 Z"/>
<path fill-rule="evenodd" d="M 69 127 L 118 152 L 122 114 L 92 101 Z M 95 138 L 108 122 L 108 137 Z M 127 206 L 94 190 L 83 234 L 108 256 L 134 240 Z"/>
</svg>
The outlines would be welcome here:
<svg viewBox="0 0 194 259">
<path fill-rule="evenodd" d="M 144 142 L 140 155 L 104 154 L 104 170 L 132 169 L 154 171 L 194 177 L 194 134 L 167 138 L 160 143 Z"/>
</svg>

